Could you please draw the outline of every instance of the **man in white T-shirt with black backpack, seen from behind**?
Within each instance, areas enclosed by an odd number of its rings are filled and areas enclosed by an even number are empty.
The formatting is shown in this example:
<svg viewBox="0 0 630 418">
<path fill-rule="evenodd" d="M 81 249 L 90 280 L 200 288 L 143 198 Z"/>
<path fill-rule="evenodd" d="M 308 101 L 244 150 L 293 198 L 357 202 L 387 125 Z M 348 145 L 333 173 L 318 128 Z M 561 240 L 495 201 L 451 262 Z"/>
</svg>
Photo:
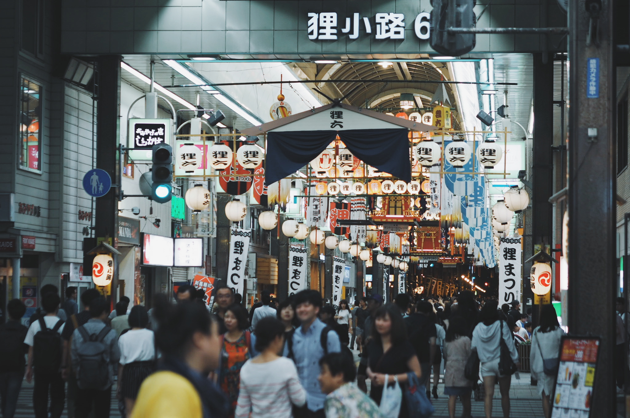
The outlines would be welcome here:
<svg viewBox="0 0 630 418">
<path fill-rule="evenodd" d="M 66 392 L 61 378 L 61 332 L 64 321 L 57 316 L 60 298 L 49 292 L 42 298 L 45 312 L 26 332 L 24 343 L 29 346 L 26 381 L 31 383 L 35 370 L 33 388 L 33 409 L 35 418 L 48 418 L 48 398 L 50 393 L 50 418 L 59 418 L 64 410 Z"/>
</svg>

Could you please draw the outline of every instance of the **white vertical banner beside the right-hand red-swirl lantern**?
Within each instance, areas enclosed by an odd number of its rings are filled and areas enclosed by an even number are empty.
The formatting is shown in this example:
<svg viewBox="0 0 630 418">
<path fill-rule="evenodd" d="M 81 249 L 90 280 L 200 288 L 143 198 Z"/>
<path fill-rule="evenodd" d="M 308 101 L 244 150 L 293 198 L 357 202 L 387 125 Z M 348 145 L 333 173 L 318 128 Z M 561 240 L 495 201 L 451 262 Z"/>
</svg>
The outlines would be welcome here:
<svg viewBox="0 0 630 418">
<path fill-rule="evenodd" d="M 520 237 L 501 238 L 499 245 L 499 306 L 513 300 L 522 302 L 522 250 Z"/>
</svg>

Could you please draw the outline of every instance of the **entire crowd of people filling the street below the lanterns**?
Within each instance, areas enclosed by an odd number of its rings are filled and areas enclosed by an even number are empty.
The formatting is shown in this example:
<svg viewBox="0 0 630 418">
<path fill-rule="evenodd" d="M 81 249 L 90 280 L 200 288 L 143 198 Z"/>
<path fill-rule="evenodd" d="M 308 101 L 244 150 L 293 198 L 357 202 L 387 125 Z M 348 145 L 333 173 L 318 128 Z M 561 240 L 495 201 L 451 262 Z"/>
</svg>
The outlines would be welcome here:
<svg viewBox="0 0 630 418">
<path fill-rule="evenodd" d="M 335 307 L 316 290 L 281 302 L 263 292 L 248 312 L 240 295 L 218 286 L 212 314 L 198 293 L 180 286 L 176 303 L 158 294 L 149 310 L 123 297 L 110 312 L 92 289 L 79 312 L 76 288 L 60 305 L 47 285 L 28 327 L 25 306 L 11 300 L 11 320 L 0 326 L 3 417 L 13 418 L 25 377 L 35 382 L 36 418 L 59 418 L 64 407 L 70 418 L 107 418 L 113 387 L 131 418 L 407 418 L 418 416 L 408 398 L 415 385 L 429 402 L 443 374 L 451 418 L 458 398 L 461 416 L 471 417 L 473 388 L 484 392 L 490 418 L 496 383 L 507 418 L 515 344 L 527 340 L 550 416 L 555 376 L 543 364 L 558 356 L 563 335 L 551 305 L 532 329 L 518 302 L 479 303 L 469 291 L 450 300 L 400 294 L 389 304 L 371 295 Z M 471 358 L 478 376 L 467 372 Z"/>
</svg>

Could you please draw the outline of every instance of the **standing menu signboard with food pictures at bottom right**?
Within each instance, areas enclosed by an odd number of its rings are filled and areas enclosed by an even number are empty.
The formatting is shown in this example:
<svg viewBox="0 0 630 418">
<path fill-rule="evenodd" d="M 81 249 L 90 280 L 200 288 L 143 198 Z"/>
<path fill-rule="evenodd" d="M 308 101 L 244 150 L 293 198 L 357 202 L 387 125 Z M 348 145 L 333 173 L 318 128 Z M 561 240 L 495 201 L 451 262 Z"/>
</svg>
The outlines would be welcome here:
<svg viewBox="0 0 630 418">
<path fill-rule="evenodd" d="M 599 337 L 562 337 L 552 418 L 590 416 L 599 347 Z"/>
</svg>

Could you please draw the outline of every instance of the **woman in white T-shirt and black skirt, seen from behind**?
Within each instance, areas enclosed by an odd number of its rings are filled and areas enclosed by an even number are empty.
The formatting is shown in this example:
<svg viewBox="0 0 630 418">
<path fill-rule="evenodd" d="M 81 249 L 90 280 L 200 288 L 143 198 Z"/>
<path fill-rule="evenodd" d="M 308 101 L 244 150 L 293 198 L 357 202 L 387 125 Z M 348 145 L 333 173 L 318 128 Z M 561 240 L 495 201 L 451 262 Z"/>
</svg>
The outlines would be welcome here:
<svg viewBox="0 0 630 418">
<path fill-rule="evenodd" d="M 127 416 L 131 416 L 142 381 L 155 370 L 157 352 L 153 331 L 146 329 L 149 315 L 142 305 L 129 312 L 130 330 L 118 338 L 118 398 L 125 400 Z"/>
</svg>

